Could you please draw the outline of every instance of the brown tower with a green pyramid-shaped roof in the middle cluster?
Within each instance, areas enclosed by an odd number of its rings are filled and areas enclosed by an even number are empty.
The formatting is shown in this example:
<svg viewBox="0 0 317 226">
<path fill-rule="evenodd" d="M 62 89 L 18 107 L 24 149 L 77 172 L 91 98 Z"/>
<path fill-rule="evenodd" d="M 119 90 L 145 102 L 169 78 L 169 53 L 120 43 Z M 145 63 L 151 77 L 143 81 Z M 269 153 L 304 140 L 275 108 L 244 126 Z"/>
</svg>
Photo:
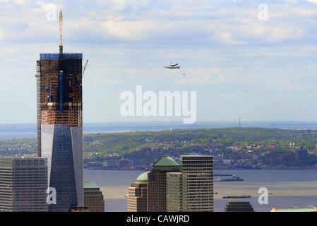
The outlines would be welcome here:
<svg viewBox="0 0 317 226">
<path fill-rule="evenodd" d="M 148 212 L 166 212 L 166 174 L 179 172 L 179 163 L 172 157 L 162 157 L 148 173 Z"/>
</svg>

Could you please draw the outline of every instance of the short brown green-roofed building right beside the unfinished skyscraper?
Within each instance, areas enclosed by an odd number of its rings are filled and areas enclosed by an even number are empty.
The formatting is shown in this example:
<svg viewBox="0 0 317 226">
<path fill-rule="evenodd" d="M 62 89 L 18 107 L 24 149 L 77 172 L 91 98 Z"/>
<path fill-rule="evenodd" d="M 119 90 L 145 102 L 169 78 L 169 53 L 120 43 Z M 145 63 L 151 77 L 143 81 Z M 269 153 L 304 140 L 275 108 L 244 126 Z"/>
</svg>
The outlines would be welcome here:
<svg viewBox="0 0 317 226">
<path fill-rule="evenodd" d="M 104 196 L 95 182 L 83 182 L 84 205 L 90 212 L 104 212 Z"/>
</svg>

